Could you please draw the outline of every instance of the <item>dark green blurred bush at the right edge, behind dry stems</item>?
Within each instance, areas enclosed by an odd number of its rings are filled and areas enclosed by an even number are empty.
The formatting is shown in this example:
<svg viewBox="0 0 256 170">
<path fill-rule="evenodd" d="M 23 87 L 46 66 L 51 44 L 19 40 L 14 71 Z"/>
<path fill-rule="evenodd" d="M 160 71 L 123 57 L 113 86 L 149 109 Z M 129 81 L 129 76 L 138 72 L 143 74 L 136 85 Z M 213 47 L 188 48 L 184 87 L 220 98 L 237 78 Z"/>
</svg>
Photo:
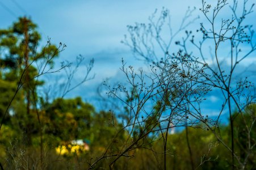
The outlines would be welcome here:
<svg viewBox="0 0 256 170">
<path fill-rule="evenodd" d="M 239 156 L 244 169 L 255 169 L 256 150 L 254 146 L 256 145 L 256 104 L 248 105 L 242 114 L 234 112 L 232 117 L 234 125 L 234 152 Z M 224 131 L 223 140 L 230 144 L 230 126 L 226 126 Z M 225 155 L 225 158 L 227 159 L 227 163 L 223 164 L 228 166 L 228 164 L 231 163 L 231 156 L 224 152 L 222 154 Z"/>
</svg>

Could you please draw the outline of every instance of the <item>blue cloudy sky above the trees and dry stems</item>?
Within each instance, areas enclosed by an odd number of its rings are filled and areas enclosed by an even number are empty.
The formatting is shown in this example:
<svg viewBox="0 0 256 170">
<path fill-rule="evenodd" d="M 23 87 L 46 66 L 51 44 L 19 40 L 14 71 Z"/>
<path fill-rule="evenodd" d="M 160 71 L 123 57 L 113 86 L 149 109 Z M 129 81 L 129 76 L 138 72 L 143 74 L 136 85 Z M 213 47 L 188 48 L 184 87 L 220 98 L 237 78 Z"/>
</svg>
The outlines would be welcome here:
<svg viewBox="0 0 256 170">
<path fill-rule="evenodd" d="M 0 28 L 10 27 L 19 16 L 28 16 L 38 25 L 39 32 L 43 36 L 41 45 L 46 44 L 47 37 L 51 37 L 51 41 L 55 44 L 62 42 L 67 45 L 56 62 L 65 60 L 74 62 L 79 54 L 84 56 L 85 63 L 75 74 L 74 82 L 79 82 L 83 78 L 86 63 L 94 58 L 95 63 L 91 73 L 95 74 L 95 78 L 83 83 L 67 97 L 81 96 L 83 100 L 95 104 L 96 88 L 103 80 L 112 78 L 122 81 L 119 70 L 121 58 L 124 58 L 129 65 L 146 67 L 144 62 L 133 57 L 127 46 L 120 43 L 127 34 L 127 25 L 135 22 L 147 23 L 149 15 L 156 8 L 161 10 L 165 7 L 170 10 L 172 27 L 175 29 L 181 23 L 188 6 L 196 7 L 193 16 L 200 16 L 200 19 L 189 27 L 191 30 L 196 30 L 200 27 L 199 23 L 206 20 L 199 11 L 202 6 L 200 0 L 0 0 Z M 220 15 L 226 14 L 224 12 Z M 250 15 L 249 22 L 255 23 L 253 19 L 255 16 L 255 13 Z M 256 56 L 255 53 L 253 56 Z M 255 58 L 249 58 L 244 65 L 241 65 L 240 70 L 249 64 L 256 66 Z M 49 79 L 52 78 L 48 77 Z M 220 100 L 218 95 L 209 95 L 209 103 L 205 107 L 208 111 L 211 110 L 212 114 L 215 113 L 211 108 L 212 103 Z"/>
</svg>

